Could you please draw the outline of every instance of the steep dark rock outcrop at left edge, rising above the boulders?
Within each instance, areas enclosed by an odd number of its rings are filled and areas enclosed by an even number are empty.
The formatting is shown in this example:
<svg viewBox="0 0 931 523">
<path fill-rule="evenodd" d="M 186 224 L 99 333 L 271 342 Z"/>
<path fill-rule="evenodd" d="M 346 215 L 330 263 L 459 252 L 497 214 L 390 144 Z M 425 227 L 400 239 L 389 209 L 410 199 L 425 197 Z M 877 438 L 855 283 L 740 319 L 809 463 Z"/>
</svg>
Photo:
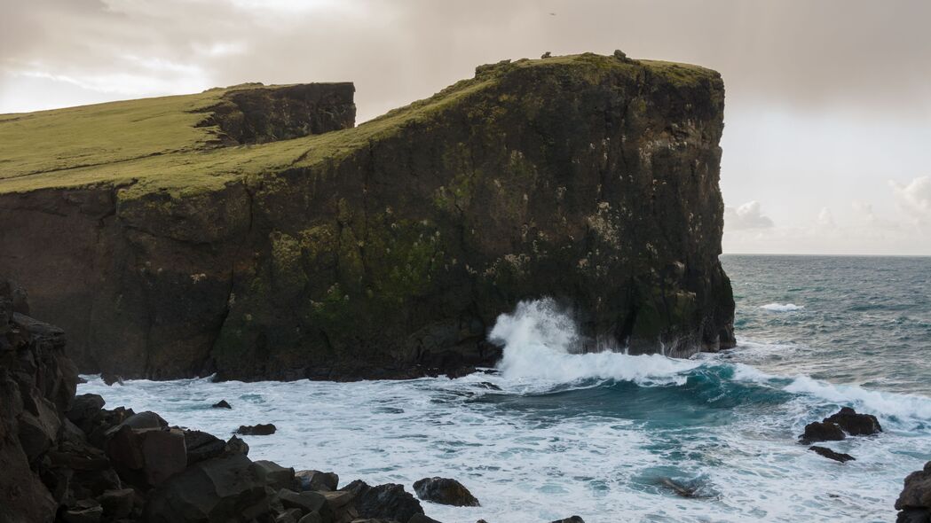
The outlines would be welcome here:
<svg viewBox="0 0 931 523">
<path fill-rule="evenodd" d="M 13 523 L 50 521 L 55 514 L 55 492 L 37 465 L 67 422 L 77 383 L 64 333 L 27 316 L 25 296 L 0 279 L 0 520 Z M 51 470 L 45 476 L 60 480 Z"/>
</svg>

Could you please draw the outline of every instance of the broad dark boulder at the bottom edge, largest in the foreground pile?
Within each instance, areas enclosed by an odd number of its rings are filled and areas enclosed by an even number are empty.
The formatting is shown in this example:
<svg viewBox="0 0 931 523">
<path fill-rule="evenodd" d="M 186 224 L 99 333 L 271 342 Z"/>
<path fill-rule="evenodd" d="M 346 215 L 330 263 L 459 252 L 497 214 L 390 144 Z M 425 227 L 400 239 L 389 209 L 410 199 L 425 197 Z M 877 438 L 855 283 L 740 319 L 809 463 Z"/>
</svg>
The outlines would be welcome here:
<svg viewBox="0 0 931 523">
<path fill-rule="evenodd" d="M 242 454 L 196 463 L 171 476 L 149 498 L 149 523 L 226 523 L 269 513 L 265 485 Z"/>
</svg>

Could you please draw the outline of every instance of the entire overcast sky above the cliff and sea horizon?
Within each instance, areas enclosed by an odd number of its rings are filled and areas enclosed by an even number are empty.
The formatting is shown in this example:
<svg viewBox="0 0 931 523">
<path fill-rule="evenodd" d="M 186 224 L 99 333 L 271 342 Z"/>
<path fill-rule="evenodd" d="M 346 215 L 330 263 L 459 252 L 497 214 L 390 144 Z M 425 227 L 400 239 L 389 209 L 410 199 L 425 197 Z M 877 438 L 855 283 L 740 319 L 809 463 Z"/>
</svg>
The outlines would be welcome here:
<svg viewBox="0 0 931 523">
<path fill-rule="evenodd" d="M 358 121 L 543 52 L 726 87 L 725 253 L 931 255 L 928 0 L 0 0 L 0 113 L 353 81 Z"/>
</svg>

